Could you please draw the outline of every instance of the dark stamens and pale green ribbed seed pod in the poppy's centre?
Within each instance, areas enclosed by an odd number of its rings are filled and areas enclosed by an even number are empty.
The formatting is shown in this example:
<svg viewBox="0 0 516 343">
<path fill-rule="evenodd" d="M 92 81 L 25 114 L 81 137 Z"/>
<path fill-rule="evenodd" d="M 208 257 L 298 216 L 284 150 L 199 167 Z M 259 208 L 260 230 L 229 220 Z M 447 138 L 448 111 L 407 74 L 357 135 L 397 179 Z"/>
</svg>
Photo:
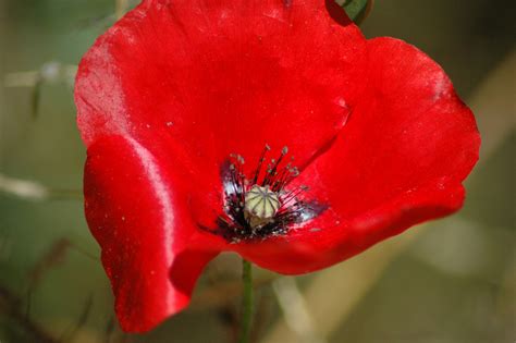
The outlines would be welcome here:
<svg viewBox="0 0 516 343">
<path fill-rule="evenodd" d="M 286 147 L 265 168 L 270 149 L 266 145 L 250 177 L 244 172 L 245 161 L 239 155 L 231 155 L 223 167 L 224 213 L 219 217 L 218 225 L 230 242 L 285 234 L 325 208 L 317 201 L 302 199 L 308 187 L 288 186 L 299 171 L 292 166 L 293 158 L 285 162 Z"/>
</svg>

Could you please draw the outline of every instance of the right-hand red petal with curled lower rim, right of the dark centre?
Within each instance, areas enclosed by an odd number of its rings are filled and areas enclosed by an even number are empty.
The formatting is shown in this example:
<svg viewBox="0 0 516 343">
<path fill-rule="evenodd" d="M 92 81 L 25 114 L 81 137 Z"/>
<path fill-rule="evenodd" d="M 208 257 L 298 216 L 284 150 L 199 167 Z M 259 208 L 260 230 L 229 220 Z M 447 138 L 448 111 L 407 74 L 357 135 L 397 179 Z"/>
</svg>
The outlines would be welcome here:
<svg viewBox="0 0 516 343">
<path fill-rule="evenodd" d="M 304 228 L 235 248 L 282 273 L 324 268 L 460 208 L 478 159 L 470 110 L 441 68 L 392 38 L 368 42 L 367 90 L 331 149 L 296 180 L 329 208 Z"/>
</svg>

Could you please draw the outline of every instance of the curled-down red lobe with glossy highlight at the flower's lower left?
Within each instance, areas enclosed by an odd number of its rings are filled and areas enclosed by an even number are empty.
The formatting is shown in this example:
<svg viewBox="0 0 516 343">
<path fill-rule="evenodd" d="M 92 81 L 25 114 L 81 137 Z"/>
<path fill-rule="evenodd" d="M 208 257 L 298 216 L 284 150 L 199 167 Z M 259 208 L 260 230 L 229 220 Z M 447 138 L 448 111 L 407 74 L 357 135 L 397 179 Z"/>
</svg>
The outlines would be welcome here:
<svg viewBox="0 0 516 343">
<path fill-rule="evenodd" d="M 202 242 L 194 228 L 184 185 L 168 167 L 122 136 L 99 138 L 88 149 L 86 217 L 125 331 L 147 331 L 184 308 L 218 254 L 216 242 Z"/>
</svg>

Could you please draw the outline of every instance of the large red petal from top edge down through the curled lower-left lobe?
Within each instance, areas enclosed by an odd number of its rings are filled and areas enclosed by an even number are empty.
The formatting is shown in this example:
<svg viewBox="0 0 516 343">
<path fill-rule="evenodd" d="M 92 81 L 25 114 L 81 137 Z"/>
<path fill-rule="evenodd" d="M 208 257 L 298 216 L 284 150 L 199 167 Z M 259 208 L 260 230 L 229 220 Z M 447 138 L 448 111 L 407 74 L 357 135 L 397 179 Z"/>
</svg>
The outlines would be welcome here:
<svg viewBox="0 0 516 343">
<path fill-rule="evenodd" d="M 229 154 L 305 164 L 349 114 L 365 39 L 332 1 L 287 2 L 147 0 L 81 62 L 86 216 L 126 331 L 186 306 L 223 248 L 195 224 L 222 210 Z"/>
</svg>

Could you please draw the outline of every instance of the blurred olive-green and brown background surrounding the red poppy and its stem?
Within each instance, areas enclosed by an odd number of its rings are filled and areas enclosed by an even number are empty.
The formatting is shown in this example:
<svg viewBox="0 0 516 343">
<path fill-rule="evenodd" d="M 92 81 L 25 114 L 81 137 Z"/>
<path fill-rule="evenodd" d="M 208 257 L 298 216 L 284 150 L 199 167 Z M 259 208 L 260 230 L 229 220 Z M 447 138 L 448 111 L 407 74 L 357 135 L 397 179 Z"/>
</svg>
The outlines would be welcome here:
<svg viewBox="0 0 516 343">
<path fill-rule="evenodd" d="M 234 341 L 232 255 L 210 264 L 192 306 L 155 331 L 123 334 L 113 317 L 83 216 L 72 85 L 124 2 L 0 0 L 2 343 Z M 515 17 L 513 0 L 376 1 L 365 34 L 429 53 L 476 113 L 483 145 L 465 208 L 324 271 L 258 270 L 255 342 L 515 342 Z"/>
</svg>

